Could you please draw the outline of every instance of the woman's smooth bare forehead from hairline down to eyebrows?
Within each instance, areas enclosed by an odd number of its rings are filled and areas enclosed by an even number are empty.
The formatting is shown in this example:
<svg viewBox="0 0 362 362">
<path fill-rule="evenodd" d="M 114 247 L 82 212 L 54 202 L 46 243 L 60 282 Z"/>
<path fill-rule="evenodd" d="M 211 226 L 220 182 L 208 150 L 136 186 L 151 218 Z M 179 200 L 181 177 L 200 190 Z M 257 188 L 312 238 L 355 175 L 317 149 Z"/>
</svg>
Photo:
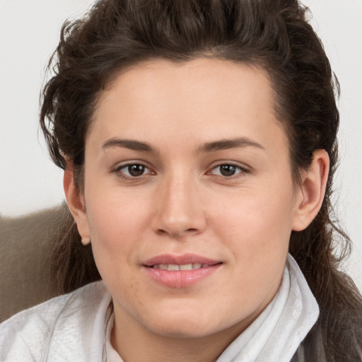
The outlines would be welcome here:
<svg viewBox="0 0 362 362">
<path fill-rule="evenodd" d="M 248 133 L 267 122 L 281 126 L 263 69 L 220 59 L 156 59 L 112 79 L 98 99 L 90 131 L 98 138 L 114 133 L 149 138 L 152 129 L 163 134 L 173 129 L 175 136 L 190 136 L 193 129 L 200 135 L 207 131 L 211 137 L 230 138 L 235 124 Z"/>
</svg>

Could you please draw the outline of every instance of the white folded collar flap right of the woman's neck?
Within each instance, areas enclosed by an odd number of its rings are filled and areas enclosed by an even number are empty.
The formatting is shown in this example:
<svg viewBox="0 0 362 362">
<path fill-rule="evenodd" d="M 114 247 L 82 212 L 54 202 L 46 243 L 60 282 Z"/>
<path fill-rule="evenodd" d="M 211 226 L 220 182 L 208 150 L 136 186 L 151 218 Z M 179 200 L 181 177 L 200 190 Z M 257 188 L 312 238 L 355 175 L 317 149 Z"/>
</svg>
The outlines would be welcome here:
<svg viewBox="0 0 362 362">
<path fill-rule="evenodd" d="M 217 362 L 289 362 L 318 315 L 317 300 L 298 264 L 288 255 L 278 293 Z"/>
</svg>

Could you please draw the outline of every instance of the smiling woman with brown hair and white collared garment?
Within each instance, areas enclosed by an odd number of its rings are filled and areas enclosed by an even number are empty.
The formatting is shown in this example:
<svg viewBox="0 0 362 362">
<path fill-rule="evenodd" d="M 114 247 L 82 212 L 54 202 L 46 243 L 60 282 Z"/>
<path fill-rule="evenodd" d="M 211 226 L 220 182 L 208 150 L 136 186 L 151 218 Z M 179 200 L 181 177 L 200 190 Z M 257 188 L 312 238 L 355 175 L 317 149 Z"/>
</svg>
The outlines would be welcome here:
<svg viewBox="0 0 362 362">
<path fill-rule="evenodd" d="M 104 0 L 55 57 L 60 278 L 103 281 L 5 322 L 1 360 L 361 360 L 334 78 L 297 1 Z"/>
</svg>

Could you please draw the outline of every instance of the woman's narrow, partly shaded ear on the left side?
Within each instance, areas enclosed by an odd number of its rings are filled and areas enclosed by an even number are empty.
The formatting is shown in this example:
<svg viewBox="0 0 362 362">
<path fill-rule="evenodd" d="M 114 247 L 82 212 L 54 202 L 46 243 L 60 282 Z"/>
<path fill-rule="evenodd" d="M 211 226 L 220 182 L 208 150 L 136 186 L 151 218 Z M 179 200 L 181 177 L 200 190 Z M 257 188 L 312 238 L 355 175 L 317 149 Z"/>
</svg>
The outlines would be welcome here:
<svg viewBox="0 0 362 362">
<path fill-rule="evenodd" d="M 82 238 L 82 244 L 87 245 L 91 242 L 91 234 L 89 231 L 84 195 L 74 184 L 73 164 L 70 162 L 66 163 L 66 169 L 64 170 L 63 187 L 66 202 L 68 203 L 71 214 L 76 220 L 78 232 Z"/>
</svg>

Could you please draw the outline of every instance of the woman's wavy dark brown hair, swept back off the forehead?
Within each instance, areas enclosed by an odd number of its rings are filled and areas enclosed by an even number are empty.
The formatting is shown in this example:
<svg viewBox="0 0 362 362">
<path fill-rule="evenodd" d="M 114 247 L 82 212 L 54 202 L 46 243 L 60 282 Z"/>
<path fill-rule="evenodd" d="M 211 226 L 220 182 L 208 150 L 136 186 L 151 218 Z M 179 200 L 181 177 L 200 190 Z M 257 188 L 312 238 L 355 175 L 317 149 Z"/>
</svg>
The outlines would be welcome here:
<svg viewBox="0 0 362 362">
<path fill-rule="evenodd" d="M 337 165 L 335 93 L 339 89 L 307 13 L 297 0 L 98 1 L 83 19 L 62 28 L 51 62 L 55 74 L 43 93 L 40 124 L 54 162 L 65 168 L 65 158 L 71 160 L 81 188 L 91 116 L 98 95 L 119 69 L 152 58 L 185 62 L 195 57 L 266 69 L 276 114 L 288 134 L 295 181 L 310 165 L 315 150 L 329 154 L 322 208 L 308 228 L 291 234 L 290 252 L 320 305 L 317 326 L 323 332 L 327 360 L 356 361 L 362 299 L 351 279 L 337 269 L 350 244 L 334 225 L 330 204 Z M 91 248 L 80 250 L 72 223 L 69 237 L 59 244 L 62 253 L 56 252 L 59 265 L 67 263 L 60 274 L 66 291 L 100 277 Z"/>
</svg>

